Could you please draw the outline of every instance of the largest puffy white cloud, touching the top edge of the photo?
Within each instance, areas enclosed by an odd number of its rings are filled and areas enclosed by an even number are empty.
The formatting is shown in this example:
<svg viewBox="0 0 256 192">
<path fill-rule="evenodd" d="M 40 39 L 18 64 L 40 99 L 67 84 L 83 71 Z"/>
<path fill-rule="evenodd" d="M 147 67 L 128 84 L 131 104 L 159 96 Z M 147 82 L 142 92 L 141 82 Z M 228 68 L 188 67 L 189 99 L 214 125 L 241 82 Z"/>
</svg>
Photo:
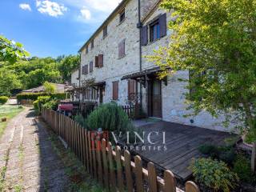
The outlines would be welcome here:
<svg viewBox="0 0 256 192">
<path fill-rule="evenodd" d="M 36 1 L 36 6 L 38 11 L 41 14 L 48 14 L 51 17 L 57 18 L 60 15 L 63 15 L 67 11 L 66 6 L 58 4 L 58 2 L 45 1 Z"/>
</svg>

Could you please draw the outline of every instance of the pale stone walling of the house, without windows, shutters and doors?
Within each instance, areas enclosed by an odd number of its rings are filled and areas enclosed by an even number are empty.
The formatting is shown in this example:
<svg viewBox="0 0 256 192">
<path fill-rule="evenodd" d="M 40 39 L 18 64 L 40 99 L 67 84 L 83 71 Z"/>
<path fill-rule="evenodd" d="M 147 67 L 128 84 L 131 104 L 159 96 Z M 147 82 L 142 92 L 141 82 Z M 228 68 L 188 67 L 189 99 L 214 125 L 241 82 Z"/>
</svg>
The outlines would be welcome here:
<svg viewBox="0 0 256 192">
<path fill-rule="evenodd" d="M 112 18 L 104 22 L 107 25 L 107 36 L 103 38 L 103 30 L 98 30 L 90 42 L 81 50 L 81 71 L 85 65 L 90 66 L 93 62 L 93 71 L 88 70 L 88 74 L 81 75 L 81 83 L 90 78 L 95 78 L 96 82 L 105 82 L 105 92 L 103 102 L 110 102 L 113 98 L 113 82 L 118 81 L 118 104 L 126 105 L 128 100 L 128 83 L 127 80 L 121 80 L 127 74 L 134 74 L 140 71 L 140 30 L 138 29 L 138 0 L 123 1 L 122 7 L 112 14 Z M 157 0 L 141 0 L 142 24 L 150 23 L 160 14 L 166 13 L 157 5 Z M 125 9 L 126 18 L 120 23 L 119 13 Z M 150 13 L 150 9 L 154 9 Z M 171 14 L 166 13 L 166 23 L 170 21 Z M 104 26 L 102 26 L 103 28 Z M 154 54 L 154 50 L 158 50 L 160 46 L 168 46 L 171 31 L 167 30 L 166 36 L 154 42 L 149 42 L 146 46 L 142 46 L 142 71 L 154 68 L 152 62 L 148 62 L 146 55 Z M 91 39 L 94 39 L 94 47 L 91 48 Z M 118 58 L 118 44 L 125 39 L 125 56 Z M 95 56 L 103 54 L 103 67 L 95 67 Z M 72 75 L 72 81 L 76 81 L 75 77 L 78 72 Z M 212 118 L 210 114 L 202 112 L 196 117 L 184 118 L 184 114 L 189 114 L 186 110 L 186 100 L 184 94 L 188 91 L 185 89 L 186 83 L 179 82 L 178 78 L 189 78 L 187 71 L 179 71 L 172 77 L 167 78 L 167 84 L 162 83 L 162 119 L 168 122 L 178 122 L 186 125 L 205 127 L 213 130 L 226 130 L 222 127 L 222 118 Z M 74 82 L 72 82 L 74 83 Z M 77 82 L 76 82 L 77 83 Z M 138 85 L 138 90 L 142 92 L 142 108 L 147 112 L 148 107 L 148 89 Z M 80 97 L 82 99 L 82 95 Z M 193 120 L 193 121 L 192 121 Z"/>
</svg>

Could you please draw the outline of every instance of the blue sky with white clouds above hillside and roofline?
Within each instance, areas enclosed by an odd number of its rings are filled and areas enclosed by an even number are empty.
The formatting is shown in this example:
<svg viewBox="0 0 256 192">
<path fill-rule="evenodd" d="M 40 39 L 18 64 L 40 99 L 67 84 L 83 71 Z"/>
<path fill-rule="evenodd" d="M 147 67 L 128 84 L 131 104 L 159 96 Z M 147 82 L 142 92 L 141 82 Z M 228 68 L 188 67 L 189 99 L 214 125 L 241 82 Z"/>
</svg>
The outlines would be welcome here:
<svg viewBox="0 0 256 192">
<path fill-rule="evenodd" d="M 0 34 L 31 56 L 77 54 L 121 0 L 1 0 Z"/>
</svg>

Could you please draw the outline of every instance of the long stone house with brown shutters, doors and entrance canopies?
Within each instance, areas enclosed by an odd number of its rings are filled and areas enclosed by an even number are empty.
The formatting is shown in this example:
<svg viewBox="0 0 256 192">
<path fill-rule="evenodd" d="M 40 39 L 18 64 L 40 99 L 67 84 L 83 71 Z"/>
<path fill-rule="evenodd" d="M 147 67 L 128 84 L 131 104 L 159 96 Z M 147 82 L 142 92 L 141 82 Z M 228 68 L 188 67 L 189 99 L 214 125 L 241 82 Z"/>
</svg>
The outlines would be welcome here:
<svg viewBox="0 0 256 192">
<path fill-rule="evenodd" d="M 160 81 L 158 66 L 145 58 L 169 43 L 171 31 L 166 26 L 173 18 L 159 7 L 160 2 L 123 0 L 82 46 L 80 73 L 74 71 L 72 83 L 82 86 L 90 79 L 95 83 L 78 99 L 115 101 L 119 105 L 136 103 L 148 117 L 226 130 L 222 118 L 213 118 L 206 112 L 184 117 L 190 114 L 184 95 L 189 90 L 178 78 L 189 78 L 188 71 L 179 71 Z"/>
</svg>

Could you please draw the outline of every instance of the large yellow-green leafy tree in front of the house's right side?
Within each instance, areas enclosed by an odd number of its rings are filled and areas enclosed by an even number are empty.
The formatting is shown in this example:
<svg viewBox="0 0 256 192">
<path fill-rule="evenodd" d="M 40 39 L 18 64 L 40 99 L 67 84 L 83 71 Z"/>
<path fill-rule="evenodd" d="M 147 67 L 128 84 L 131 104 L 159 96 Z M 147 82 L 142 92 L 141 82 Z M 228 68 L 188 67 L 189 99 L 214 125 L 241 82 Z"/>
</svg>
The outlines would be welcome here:
<svg viewBox="0 0 256 192">
<path fill-rule="evenodd" d="M 173 32 L 168 47 L 150 60 L 161 66 L 190 70 L 188 89 L 194 113 L 207 110 L 226 122 L 239 119 L 241 134 L 253 143 L 252 170 L 256 170 L 256 2 L 255 0 L 164 0 L 172 11 Z M 232 115 L 230 115 L 232 114 Z"/>
</svg>

